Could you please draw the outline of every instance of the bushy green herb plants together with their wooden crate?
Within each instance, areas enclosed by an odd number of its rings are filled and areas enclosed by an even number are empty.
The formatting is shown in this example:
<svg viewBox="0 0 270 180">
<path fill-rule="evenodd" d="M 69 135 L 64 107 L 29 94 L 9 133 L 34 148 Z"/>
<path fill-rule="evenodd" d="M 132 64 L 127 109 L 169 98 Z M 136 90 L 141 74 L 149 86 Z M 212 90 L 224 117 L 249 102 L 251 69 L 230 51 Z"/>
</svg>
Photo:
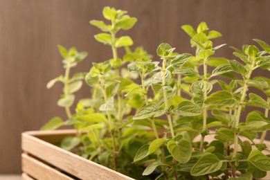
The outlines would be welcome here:
<svg viewBox="0 0 270 180">
<path fill-rule="evenodd" d="M 237 60 L 214 57 L 225 44 L 214 46 L 211 39 L 221 34 L 202 22 L 197 30 L 182 26 L 194 55 L 177 53 L 162 43 L 156 50 L 160 58 L 153 61 L 143 48 L 130 48 L 131 37 L 118 36 L 119 30 L 132 28 L 136 18 L 109 7 L 103 9 L 103 16 L 111 23 L 92 20 L 90 24 L 103 31 L 95 38 L 111 46 L 110 60 L 93 63 L 88 73 L 71 77 L 71 68 L 87 53 L 58 46 L 65 73 L 47 87 L 64 84 L 57 105 L 65 108 L 67 120 L 55 117 L 42 127 L 46 132 L 23 134 L 23 150 L 32 155 L 23 154 L 26 174 L 35 179 L 45 176 L 40 175 L 43 171 L 62 179 L 267 176 L 270 149 L 264 138 L 270 129 L 270 80 L 253 77 L 253 71 L 270 69 L 268 44 L 254 39 L 260 48 L 233 48 Z M 118 48 L 125 48 L 123 57 Z M 79 100 L 73 111 L 74 93 L 84 80 L 91 87 L 91 98 Z M 249 87 L 260 89 L 264 96 L 249 92 Z M 248 106 L 260 111 L 244 117 L 242 111 Z M 62 125 L 73 125 L 75 131 L 48 131 Z M 33 172 L 31 167 L 38 168 Z"/>
</svg>

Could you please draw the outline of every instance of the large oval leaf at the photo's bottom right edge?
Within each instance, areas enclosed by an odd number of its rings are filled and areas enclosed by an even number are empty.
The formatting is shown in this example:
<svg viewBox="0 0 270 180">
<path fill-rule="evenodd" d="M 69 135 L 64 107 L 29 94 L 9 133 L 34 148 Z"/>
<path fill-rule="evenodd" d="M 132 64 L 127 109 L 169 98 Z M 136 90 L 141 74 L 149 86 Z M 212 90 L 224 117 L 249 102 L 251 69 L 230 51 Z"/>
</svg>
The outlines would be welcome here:
<svg viewBox="0 0 270 180">
<path fill-rule="evenodd" d="M 259 150 L 251 150 L 248 160 L 259 170 L 270 170 L 270 158 L 262 154 Z"/>
</svg>

